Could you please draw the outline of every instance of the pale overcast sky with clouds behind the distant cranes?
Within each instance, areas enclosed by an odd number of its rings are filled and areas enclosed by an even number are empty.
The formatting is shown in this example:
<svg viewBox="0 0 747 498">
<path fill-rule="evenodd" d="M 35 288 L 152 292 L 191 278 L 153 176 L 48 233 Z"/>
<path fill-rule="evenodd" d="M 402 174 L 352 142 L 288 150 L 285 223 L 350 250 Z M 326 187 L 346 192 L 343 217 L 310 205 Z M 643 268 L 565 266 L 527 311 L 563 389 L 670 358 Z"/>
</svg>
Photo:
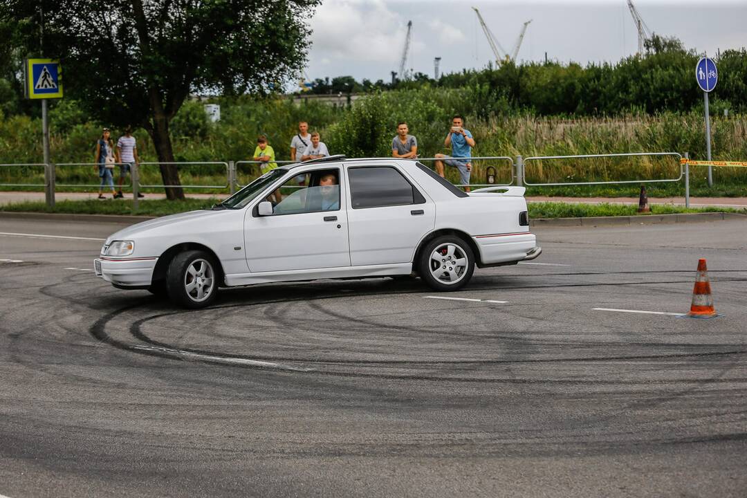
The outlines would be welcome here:
<svg viewBox="0 0 747 498">
<path fill-rule="evenodd" d="M 747 46 L 746 0 L 634 4 L 651 31 L 676 36 L 687 48 L 715 54 L 716 49 Z M 442 73 L 483 68 L 494 57 L 472 6 L 507 51 L 521 25 L 533 19 L 518 60 L 544 60 L 547 52 L 549 59 L 563 63 L 617 61 L 638 46 L 626 0 L 323 0 L 311 18 L 306 72 L 312 80 L 339 75 L 390 80 L 390 72 L 400 66 L 409 20 L 408 68 L 433 76 L 434 57 L 441 57 Z"/>
</svg>

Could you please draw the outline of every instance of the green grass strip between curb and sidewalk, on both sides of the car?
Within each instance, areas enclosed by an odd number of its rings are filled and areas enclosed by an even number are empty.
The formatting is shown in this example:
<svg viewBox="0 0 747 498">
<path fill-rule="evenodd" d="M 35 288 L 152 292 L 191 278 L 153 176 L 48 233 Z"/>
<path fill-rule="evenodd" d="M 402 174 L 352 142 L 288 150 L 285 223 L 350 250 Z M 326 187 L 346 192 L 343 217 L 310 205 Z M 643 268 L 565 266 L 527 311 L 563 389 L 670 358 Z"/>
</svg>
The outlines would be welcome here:
<svg viewBox="0 0 747 498">
<path fill-rule="evenodd" d="M 184 201 L 147 200 L 140 201 L 137 211 L 132 211 L 132 201 L 127 199 L 84 201 L 61 201 L 54 208 L 48 208 L 44 202 L 18 202 L 0 205 L 0 211 L 65 213 L 65 214 L 120 214 L 141 216 L 166 216 L 167 214 L 194 211 L 210 208 L 217 199 L 185 199 Z M 577 218 L 607 216 L 648 216 L 636 213 L 635 205 L 619 204 L 569 204 L 565 202 L 530 202 L 530 218 Z M 651 206 L 651 214 L 675 213 L 740 213 L 747 214 L 747 209 L 732 208 L 684 208 L 673 205 Z"/>
</svg>

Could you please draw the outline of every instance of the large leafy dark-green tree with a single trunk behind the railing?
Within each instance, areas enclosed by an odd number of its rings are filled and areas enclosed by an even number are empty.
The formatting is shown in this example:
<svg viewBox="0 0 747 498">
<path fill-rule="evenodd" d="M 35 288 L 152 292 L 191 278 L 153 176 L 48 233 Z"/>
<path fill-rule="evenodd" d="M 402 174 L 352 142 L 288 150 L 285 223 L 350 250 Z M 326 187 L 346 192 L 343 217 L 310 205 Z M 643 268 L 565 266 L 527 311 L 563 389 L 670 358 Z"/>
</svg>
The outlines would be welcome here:
<svg viewBox="0 0 747 498">
<path fill-rule="evenodd" d="M 174 161 L 169 125 L 190 93 L 265 93 L 306 60 L 320 0 L 6 0 L 28 52 L 61 60 L 65 92 L 102 122 L 148 131 Z M 39 47 L 40 15 L 44 38 Z M 164 184 L 180 185 L 161 164 Z M 167 188 L 169 199 L 182 188 Z"/>
</svg>

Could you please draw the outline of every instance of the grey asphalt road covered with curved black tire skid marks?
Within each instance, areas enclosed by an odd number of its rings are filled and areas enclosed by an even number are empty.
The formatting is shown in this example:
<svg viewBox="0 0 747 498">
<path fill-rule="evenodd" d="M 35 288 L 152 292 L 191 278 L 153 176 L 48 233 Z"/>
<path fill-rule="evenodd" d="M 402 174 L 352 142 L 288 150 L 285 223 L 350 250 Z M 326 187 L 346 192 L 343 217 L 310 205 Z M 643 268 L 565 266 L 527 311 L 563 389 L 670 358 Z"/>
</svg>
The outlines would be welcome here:
<svg viewBox="0 0 747 498">
<path fill-rule="evenodd" d="M 96 278 L 117 228 L 0 218 L 0 495 L 747 495 L 747 221 L 538 228 L 457 293 L 204 311 Z M 698 258 L 718 318 L 593 309 L 686 312 Z"/>
</svg>

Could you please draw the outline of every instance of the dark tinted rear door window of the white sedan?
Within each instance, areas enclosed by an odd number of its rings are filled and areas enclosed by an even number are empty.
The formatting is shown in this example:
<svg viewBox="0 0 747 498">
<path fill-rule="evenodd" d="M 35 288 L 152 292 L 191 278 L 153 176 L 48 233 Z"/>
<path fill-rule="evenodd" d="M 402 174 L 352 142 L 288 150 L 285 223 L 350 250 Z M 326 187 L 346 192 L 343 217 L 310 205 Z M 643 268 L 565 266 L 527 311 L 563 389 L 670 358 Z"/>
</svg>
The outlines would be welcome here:
<svg viewBox="0 0 747 498">
<path fill-rule="evenodd" d="M 425 198 L 396 168 L 351 167 L 350 197 L 353 209 L 423 204 Z"/>
</svg>

